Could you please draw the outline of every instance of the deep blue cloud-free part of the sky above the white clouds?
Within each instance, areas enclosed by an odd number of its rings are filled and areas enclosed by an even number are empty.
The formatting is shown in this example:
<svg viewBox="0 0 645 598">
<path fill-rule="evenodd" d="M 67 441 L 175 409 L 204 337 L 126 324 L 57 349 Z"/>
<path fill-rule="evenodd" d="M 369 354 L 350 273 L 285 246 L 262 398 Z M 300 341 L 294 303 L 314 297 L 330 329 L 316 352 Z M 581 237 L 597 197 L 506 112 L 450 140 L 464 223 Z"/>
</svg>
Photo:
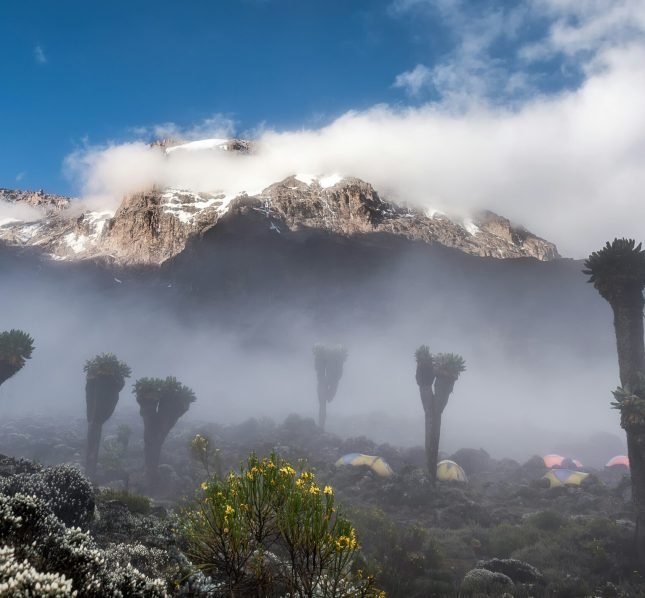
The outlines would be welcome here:
<svg viewBox="0 0 645 598">
<path fill-rule="evenodd" d="M 433 69 L 452 68 L 468 35 L 484 44 L 483 62 L 472 68 L 491 86 L 484 92 L 491 101 L 577 84 L 576 69 L 561 68 L 558 56 L 518 64 L 518 48 L 539 42 L 550 21 L 534 14 L 519 18 L 512 34 L 495 32 L 513 11 L 524 12 L 523 4 L 3 2 L 0 186 L 78 192 L 63 172 L 66 155 L 141 127 L 153 137 L 159 123 L 186 128 L 215 114 L 238 134 L 253 134 L 259 126 L 322 126 L 381 103 L 439 101 L 441 83 L 428 80 Z M 491 39 L 479 39 L 488 30 Z M 509 72 L 524 73 L 522 82 L 530 73 L 531 88 L 497 86 Z"/>
</svg>

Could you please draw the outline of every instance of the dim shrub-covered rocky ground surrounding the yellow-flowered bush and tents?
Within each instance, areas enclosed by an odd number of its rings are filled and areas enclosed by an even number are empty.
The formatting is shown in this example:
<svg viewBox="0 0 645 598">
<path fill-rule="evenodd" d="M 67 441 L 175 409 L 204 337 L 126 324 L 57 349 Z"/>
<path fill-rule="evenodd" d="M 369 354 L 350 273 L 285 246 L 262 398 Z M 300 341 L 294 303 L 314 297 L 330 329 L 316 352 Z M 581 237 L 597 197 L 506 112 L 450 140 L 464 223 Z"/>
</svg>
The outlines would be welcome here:
<svg viewBox="0 0 645 598">
<path fill-rule="evenodd" d="M 592 471 L 580 487 L 548 488 L 539 458 L 520 464 L 462 449 L 451 458 L 467 472 L 468 483 L 442 482 L 433 488 L 420 447 L 341 439 L 298 416 L 280 424 L 254 419 L 236 426 L 180 422 L 164 446 L 163 489 L 150 500 L 140 496 L 145 486 L 137 419 L 106 426 L 99 488 L 69 467 L 82 467 L 85 431 L 81 419 L 0 423 L 0 453 L 30 459 L 0 459 L 0 516 L 22 509 L 33 512 L 34 521 L 46 519 L 36 513 L 45 507 L 16 498 L 20 493 L 40 496 L 51 511 L 45 527 L 56 530 L 48 532 L 57 538 L 50 550 L 71 558 L 70 543 L 80 542 L 85 556 L 74 552 L 82 561 L 74 561 L 75 567 L 91 569 L 86 575 L 90 585 L 143 588 L 144 595 L 214 595 L 203 579 L 191 577 L 173 528 L 177 505 L 190 499 L 206 475 L 190 451 L 190 440 L 200 433 L 218 449 L 211 461 L 214 471 L 237 467 L 252 450 L 276 451 L 294 466 L 306 460 L 321 482 L 335 488 L 357 527 L 362 544 L 357 566 L 375 574 L 389 596 L 645 595 L 631 554 L 629 482 L 621 472 Z M 396 473 L 381 478 L 364 467 L 336 468 L 338 457 L 349 452 L 380 455 Z M 66 465 L 47 467 L 57 464 Z M 79 526 L 87 537 L 69 538 L 71 526 Z M 0 545 L 7 538 L 16 542 L 12 529 L 6 521 L 0 524 Z M 103 565 L 92 569 L 86 553 L 102 555 L 110 571 Z M 29 551 L 18 556 L 34 562 Z M 4 558 L 17 566 L 19 559 Z"/>
</svg>

